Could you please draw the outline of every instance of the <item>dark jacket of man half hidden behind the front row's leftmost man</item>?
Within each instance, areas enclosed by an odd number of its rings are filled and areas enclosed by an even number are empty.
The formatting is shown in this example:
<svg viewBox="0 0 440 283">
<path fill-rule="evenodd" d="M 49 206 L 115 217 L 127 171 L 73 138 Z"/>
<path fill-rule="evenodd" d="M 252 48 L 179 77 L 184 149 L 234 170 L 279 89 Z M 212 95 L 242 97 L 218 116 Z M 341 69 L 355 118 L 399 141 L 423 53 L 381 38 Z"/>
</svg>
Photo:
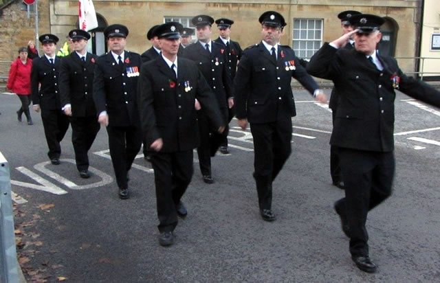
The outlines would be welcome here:
<svg viewBox="0 0 440 283">
<path fill-rule="evenodd" d="M 211 52 L 199 42 L 184 49 L 183 56 L 194 61 L 214 91 L 221 109 L 228 108 L 228 98 L 232 97 L 232 81 L 225 65 L 225 47 L 211 41 Z M 203 108 L 202 108 L 203 109 Z"/>
</svg>

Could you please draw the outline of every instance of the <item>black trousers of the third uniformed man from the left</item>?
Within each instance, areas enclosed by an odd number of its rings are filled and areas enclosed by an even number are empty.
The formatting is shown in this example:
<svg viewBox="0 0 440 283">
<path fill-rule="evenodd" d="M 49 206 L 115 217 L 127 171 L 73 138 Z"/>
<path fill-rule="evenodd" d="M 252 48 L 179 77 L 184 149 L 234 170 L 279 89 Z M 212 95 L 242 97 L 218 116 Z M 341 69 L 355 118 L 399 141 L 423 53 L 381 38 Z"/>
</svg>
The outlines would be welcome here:
<svg viewBox="0 0 440 283">
<path fill-rule="evenodd" d="M 135 160 L 142 144 L 139 126 L 107 126 L 111 163 L 115 170 L 118 188 L 128 188 L 127 172 Z"/>
</svg>

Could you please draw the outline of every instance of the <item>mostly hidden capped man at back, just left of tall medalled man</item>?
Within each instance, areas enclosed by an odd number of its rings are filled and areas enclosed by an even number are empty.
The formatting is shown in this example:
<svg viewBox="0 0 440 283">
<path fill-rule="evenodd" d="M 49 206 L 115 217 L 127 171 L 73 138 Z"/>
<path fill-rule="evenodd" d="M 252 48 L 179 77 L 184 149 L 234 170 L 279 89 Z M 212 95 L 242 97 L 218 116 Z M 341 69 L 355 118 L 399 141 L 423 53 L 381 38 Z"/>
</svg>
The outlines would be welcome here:
<svg viewBox="0 0 440 283">
<path fill-rule="evenodd" d="M 217 27 L 219 27 L 219 33 L 220 36 L 215 40 L 215 42 L 220 43 L 225 47 L 226 52 L 226 65 L 228 65 L 228 71 L 231 77 L 231 80 L 234 81 L 235 73 L 236 73 L 236 64 L 239 62 L 241 58 L 241 54 L 243 53 L 243 50 L 241 50 L 241 47 L 238 42 L 232 41 L 230 39 L 231 34 L 231 25 L 234 23 L 234 21 L 230 19 L 217 19 L 215 21 L 217 23 Z M 234 107 L 231 107 L 228 110 L 228 122 L 231 122 L 232 118 L 234 117 Z M 228 150 L 228 137 L 224 136 L 223 140 L 221 141 L 220 145 L 220 152 L 227 155 L 229 153 Z"/>
</svg>

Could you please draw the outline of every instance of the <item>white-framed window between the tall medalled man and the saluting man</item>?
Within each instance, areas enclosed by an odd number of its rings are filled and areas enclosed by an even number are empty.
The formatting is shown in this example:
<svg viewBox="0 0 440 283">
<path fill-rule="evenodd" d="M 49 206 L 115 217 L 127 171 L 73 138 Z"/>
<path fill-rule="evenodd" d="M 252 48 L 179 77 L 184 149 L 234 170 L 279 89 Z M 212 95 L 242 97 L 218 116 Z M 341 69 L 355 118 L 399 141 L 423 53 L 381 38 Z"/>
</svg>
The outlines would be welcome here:
<svg viewBox="0 0 440 283">
<path fill-rule="evenodd" d="M 294 19 L 293 49 L 298 58 L 311 58 L 322 45 L 322 19 Z"/>
</svg>

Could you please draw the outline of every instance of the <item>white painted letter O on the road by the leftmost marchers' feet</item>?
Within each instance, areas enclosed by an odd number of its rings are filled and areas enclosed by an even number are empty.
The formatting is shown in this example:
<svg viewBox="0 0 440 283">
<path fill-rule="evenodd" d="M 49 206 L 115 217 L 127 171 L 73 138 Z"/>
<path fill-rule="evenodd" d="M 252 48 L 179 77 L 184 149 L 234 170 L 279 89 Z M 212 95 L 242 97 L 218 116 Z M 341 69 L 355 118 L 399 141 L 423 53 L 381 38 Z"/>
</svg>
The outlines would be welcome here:
<svg viewBox="0 0 440 283">
<path fill-rule="evenodd" d="M 60 159 L 60 161 L 76 164 L 76 161 L 74 159 Z M 51 177 L 52 179 L 55 179 L 56 181 L 62 183 L 67 188 L 72 189 L 72 190 L 85 190 L 85 189 L 90 189 L 90 188 L 97 188 L 97 187 L 102 187 L 103 185 L 108 185 L 109 183 L 113 182 L 113 178 L 111 178 L 108 174 L 106 174 L 106 173 L 102 172 L 101 170 L 98 170 L 94 167 L 89 166 L 89 171 L 92 172 L 93 174 L 95 174 L 96 176 L 100 177 L 101 181 L 87 184 L 87 185 L 77 185 L 76 183 L 68 180 L 67 178 L 62 177 L 60 174 L 56 174 L 52 170 L 47 169 L 45 167 L 45 166 L 47 166 L 47 164 L 50 164 L 50 161 L 38 163 L 38 164 L 34 165 L 34 168 L 36 170 L 39 170 L 43 174 L 46 174 L 47 176 Z M 79 178 L 79 175 L 78 175 L 78 178 Z"/>
</svg>

